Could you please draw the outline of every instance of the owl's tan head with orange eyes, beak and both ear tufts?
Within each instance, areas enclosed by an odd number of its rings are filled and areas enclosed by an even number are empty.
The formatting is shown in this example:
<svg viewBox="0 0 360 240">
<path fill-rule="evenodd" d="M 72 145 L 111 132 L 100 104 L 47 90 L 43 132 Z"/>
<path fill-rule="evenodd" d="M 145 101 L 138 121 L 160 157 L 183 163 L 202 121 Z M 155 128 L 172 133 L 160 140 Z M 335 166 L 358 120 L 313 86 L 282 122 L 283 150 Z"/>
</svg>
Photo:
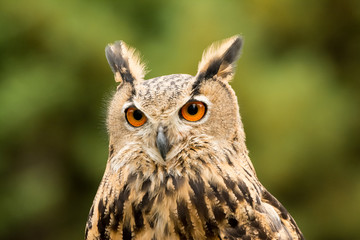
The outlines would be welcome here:
<svg viewBox="0 0 360 240">
<path fill-rule="evenodd" d="M 246 151 L 237 98 L 229 85 L 241 46 L 240 36 L 214 43 L 195 76 L 145 80 L 135 50 L 122 41 L 109 44 L 106 58 L 119 83 L 107 118 L 113 167 L 136 162 L 139 155 L 139 164 L 171 167 L 200 149 Z"/>
</svg>

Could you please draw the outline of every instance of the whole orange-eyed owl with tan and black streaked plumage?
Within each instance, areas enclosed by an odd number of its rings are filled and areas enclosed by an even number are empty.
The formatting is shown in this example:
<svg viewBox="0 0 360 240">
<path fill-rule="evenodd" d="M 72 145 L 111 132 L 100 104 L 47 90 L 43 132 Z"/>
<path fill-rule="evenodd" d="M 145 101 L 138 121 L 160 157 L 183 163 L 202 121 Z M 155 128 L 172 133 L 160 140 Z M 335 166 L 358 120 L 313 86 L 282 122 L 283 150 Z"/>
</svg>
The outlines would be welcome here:
<svg viewBox="0 0 360 240">
<path fill-rule="evenodd" d="M 304 239 L 248 156 L 229 85 L 242 42 L 211 45 L 195 76 L 149 80 L 133 48 L 106 47 L 119 85 L 85 239 Z"/>
</svg>

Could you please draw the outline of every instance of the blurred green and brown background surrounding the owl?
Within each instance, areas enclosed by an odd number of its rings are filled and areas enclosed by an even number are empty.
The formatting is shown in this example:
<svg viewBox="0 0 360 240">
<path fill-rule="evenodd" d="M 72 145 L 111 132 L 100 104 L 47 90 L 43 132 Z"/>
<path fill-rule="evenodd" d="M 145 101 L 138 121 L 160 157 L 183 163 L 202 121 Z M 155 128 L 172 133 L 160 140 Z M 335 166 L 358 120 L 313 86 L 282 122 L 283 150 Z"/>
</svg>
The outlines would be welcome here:
<svg viewBox="0 0 360 240">
<path fill-rule="evenodd" d="M 107 160 L 104 56 L 195 74 L 245 39 L 235 88 L 262 183 L 307 239 L 359 239 L 360 1 L 0 1 L 0 239 L 83 239 Z"/>
</svg>

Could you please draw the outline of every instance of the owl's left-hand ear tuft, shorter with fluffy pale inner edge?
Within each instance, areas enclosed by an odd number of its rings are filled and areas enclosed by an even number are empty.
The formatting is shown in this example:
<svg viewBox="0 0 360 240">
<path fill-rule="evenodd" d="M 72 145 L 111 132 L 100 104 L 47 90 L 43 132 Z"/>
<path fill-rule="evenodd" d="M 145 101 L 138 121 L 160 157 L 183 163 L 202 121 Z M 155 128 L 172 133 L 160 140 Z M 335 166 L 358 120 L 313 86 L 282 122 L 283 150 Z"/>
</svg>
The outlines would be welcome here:
<svg viewBox="0 0 360 240">
<path fill-rule="evenodd" d="M 133 83 L 144 79 L 145 64 L 141 63 L 140 56 L 134 48 L 117 41 L 106 46 L 105 55 L 116 82 Z"/>
</svg>

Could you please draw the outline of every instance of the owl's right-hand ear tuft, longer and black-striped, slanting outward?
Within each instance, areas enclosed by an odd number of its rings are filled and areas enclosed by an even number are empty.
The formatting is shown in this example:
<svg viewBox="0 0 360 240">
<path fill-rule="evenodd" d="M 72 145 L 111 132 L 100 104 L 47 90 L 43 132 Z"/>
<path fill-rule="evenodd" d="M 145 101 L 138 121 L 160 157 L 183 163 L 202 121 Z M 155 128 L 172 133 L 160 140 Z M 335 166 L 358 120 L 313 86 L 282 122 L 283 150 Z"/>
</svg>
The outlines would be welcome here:
<svg viewBox="0 0 360 240">
<path fill-rule="evenodd" d="M 242 38 L 238 35 L 213 43 L 203 54 L 199 63 L 197 78 L 220 78 L 229 81 L 235 72 L 242 47 Z"/>
</svg>

